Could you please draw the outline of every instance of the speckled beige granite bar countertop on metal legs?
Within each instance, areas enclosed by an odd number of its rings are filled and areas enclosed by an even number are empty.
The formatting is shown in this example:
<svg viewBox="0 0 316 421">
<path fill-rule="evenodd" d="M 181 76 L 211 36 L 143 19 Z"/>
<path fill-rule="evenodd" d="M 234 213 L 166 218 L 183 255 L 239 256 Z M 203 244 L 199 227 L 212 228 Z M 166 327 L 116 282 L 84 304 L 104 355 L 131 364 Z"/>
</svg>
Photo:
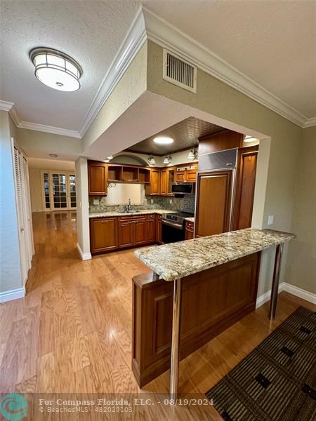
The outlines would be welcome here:
<svg viewBox="0 0 316 421">
<path fill-rule="evenodd" d="M 160 279 L 174 281 L 294 238 L 294 234 L 287 232 L 247 228 L 164 246 L 140 248 L 135 255 Z"/>
</svg>

